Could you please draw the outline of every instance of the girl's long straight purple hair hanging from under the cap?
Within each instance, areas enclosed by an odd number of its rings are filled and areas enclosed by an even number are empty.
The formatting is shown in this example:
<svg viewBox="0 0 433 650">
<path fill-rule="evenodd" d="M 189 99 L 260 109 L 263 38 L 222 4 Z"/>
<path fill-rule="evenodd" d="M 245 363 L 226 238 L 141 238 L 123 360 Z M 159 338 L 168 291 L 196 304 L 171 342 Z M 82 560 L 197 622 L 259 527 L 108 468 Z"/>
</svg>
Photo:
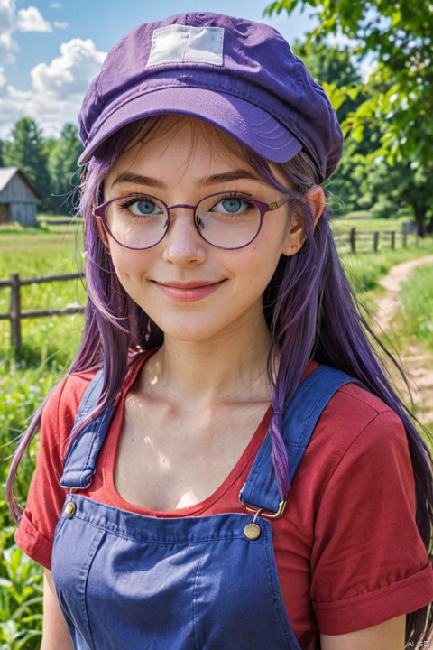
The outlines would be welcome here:
<svg viewBox="0 0 433 650">
<path fill-rule="evenodd" d="M 181 119 L 181 118 L 180 118 Z M 104 179 L 116 158 L 124 152 L 125 143 L 152 138 L 163 119 L 149 118 L 139 132 L 128 125 L 103 144 L 88 164 L 82 182 L 79 212 L 84 217 L 86 282 L 88 302 L 85 329 L 77 357 L 69 374 L 104 364 L 105 379 L 99 404 L 87 422 L 113 403 L 121 391 L 126 371 L 134 356 L 161 346 L 163 333 L 149 316 L 124 292 L 112 265 L 111 257 L 98 234 L 92 208 L 102 199 Z M 137 135 L 139 133 L 139 135 Z M 215 137 L 220 137 L 217 130 Z M 225 145 L 227 139 L 225 137 Z M 306 241 L 297 255 L 281 256 L 272 281 L 263 296 L 263 309 L 273 334 L 268 360 L 268 376 L 272 387 L 273 417 L 271 422 L 273 464 L 281 498 L 290 487 L 290 468 L 281 438 L 282 416 L 299 385 L 303 370 L 314 358 L 343 370 L 358 379 L 373 395 L 377 395 L 401 417 L 406 429 L 410 458 L 416 481 L 416 520 L 419 533 L 431 553 L 433 524 L 432 461 L 428 448 L 419 436 L 414 418 L 393 390 L 382 366 L 382 357 L 392 356 L 374 336 L 355 295 L 345 278 L 325 209 L 318 225 L 313 228 L 312 209 L 305 192 L 316 181 L 314 165 L 305 153 L 299 153 L 288 163 L 274 165 L 279 177 L 266 161 L 231 141 L 232 153 L 248 160 L 263 180 L 291 198 L 291 207 L 304 228 Z M 290 188 L 290 189 L 289 189 Z M 375 341 L 374 347 L 370 342 Z M 275 373 L 275 352 L 281 353 L 278 374 Z M 400 369 L 400 368 L 399 368 Z M 41 424 L 45 402 L 35 413 L 29 429 L 14 457 L 6 484 L 14 521 L 18 524 L 22 508 L 14 497 L 14 478 L 23 451 Z M 83 426 L 86 422 L 83 423 Z M 423 632 L 432 623 L 432 612 L 423 608 L 407 617 L 407 642 L 414 645 L 422 640 Z"/>
</svg>

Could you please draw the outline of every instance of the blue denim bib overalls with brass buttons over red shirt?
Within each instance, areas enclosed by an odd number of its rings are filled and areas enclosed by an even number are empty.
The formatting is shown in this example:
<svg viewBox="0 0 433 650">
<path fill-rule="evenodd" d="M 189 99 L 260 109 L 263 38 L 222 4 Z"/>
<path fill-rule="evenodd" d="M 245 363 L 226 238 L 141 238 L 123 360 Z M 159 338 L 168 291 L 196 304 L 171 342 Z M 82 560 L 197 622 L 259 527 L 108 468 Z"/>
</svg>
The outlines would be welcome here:
<svg viewBox="0 0 433 650">
<path fill-rule="evenodd" d="M 96 404 L 102 371 L 78 422 Z M 319 367 L 284 415 L 290 478 L 318 417 L 353 381 Z M 245 513 L 176 519 L 137 515 L 83 496 L 111 411 L 72 443 L 61 485 L 69 497 L 56 528 L 52 573 L 77 650 L 300 650 L 281 596 L 267 517 L 283 505 L 269 432 L 240 494 Z M 254 511 L 259 512 L 254 512 Z"/>
</svg>

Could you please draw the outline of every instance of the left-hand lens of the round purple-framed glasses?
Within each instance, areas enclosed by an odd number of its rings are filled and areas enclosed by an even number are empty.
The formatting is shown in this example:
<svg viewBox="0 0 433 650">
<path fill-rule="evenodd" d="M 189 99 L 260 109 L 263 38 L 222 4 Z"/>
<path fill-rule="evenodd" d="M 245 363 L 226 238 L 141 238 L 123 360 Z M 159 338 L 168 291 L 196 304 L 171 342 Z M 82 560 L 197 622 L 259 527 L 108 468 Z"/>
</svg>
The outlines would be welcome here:
<svg viewBox="0 0 433 650">
<path fill-rule="evenodd" d="M 126 196 L 106 208 L 106 223 L 115 240 L 128 248 L 150 248 L 164 237 L 169 215 L 154 197 Z"/>
</svg>

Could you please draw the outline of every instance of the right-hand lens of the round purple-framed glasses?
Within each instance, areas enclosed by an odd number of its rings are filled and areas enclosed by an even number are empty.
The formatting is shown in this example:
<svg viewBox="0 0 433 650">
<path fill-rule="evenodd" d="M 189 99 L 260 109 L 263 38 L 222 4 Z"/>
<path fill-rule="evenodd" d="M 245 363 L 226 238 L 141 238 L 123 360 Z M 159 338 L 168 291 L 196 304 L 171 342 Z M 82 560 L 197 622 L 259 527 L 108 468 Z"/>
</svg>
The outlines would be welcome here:
<svg viewBox="0 0 433 650">
<path fill-rule="evenodd" d="M 260 229 L 260 210 L 251 197 L 241 194 L 207 197 L 198 203 L 196 215 L 201 236 L 221 248 L 242 248 Z"/>
</svg>

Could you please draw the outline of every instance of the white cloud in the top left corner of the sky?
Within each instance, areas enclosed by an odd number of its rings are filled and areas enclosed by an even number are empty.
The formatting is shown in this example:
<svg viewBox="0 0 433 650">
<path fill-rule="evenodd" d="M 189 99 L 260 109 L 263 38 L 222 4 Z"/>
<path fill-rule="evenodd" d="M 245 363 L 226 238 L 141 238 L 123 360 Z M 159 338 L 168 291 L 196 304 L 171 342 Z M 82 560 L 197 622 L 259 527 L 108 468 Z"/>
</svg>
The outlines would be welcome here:
<svg viewBox="0 0 433 650">
<path fill-rule="evenodd" d="M 14 60 L 14 32 L 52 32 L 51 24 L 34 6 L 16 9 L 15 0 L 0 0 L 0 62 Z"/>
</svg>

